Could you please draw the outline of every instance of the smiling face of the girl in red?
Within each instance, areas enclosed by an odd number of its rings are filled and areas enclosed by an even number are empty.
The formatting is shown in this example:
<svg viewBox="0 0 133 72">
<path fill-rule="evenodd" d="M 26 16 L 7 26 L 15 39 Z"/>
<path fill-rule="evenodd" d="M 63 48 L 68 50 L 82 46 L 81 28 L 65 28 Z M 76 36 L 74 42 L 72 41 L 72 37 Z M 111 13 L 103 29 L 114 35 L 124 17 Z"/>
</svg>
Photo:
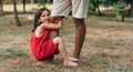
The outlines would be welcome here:
<svg viewBox="0 0 133 72">
<path fill-rule="evenodd" d="M 42 14 L 40 16 L 40 19 L 38 20 L 39 22 L 49 22 L 50 21 L 50 18 L 49 18 L 49 16 L 50 16 L 50 13 L 47 11 L 47 10 L 44 10 L 43 12 L 42 12 Z"/>
</svg>

